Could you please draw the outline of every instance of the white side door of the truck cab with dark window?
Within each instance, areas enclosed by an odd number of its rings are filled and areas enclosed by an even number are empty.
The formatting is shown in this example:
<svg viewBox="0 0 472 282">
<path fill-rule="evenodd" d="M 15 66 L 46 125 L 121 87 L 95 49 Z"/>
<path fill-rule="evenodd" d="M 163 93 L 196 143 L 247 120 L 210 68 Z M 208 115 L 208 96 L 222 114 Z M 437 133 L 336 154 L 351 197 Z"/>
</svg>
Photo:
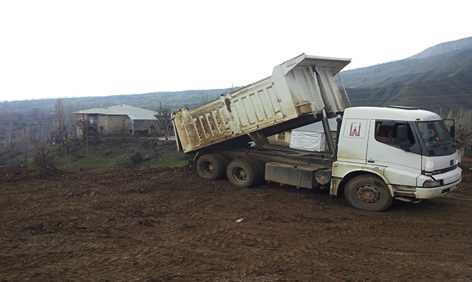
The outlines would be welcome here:
<svg viewBox="0 0 472 282">
<path fill-rule="evenodd" d="M 399 125 L 406 125 L 408 140 L 397 137 Z M 411 125 L 404 121 L 371 120 L 366 165 L 384 170 L 387 184 L 416 186 L 421 174 L 421 155 L 409 150 L 416 147 Z"/>
</svg>

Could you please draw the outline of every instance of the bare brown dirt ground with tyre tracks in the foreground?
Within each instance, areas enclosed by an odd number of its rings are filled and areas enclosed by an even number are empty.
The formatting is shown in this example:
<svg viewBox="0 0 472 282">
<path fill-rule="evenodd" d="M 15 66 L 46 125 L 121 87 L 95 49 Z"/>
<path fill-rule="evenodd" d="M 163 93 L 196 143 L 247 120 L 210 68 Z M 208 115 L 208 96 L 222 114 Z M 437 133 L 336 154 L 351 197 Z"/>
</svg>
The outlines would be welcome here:
<svg viewBox="0 0 472 282">
<path fill-rule="evenodd" d="M 0 171 L 0 281 L 472 281 L 461 166 L 459 190 L 380 213 L 182 168 Z"/>
</svg>

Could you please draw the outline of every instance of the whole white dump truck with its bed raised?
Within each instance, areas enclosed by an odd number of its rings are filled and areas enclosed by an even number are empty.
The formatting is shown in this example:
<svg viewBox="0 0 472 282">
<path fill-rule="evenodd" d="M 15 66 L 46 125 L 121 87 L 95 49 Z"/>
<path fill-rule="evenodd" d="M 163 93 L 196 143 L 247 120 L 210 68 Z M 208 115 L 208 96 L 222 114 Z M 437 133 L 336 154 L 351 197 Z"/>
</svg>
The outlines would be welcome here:
<svg viewBox="0 0 472 282">
<path fill-rule="evenodd" d="M 383 211 L 394 199 L 439 197 L 461 183 L 454 125 L 416 108 L 348 107 L 339 72 L 349 59 L 302 54 L 270 77 L 172 114 L 178 149 L 197 173 L 242 188 L 266 182 L 329 189 L 353 207 Z M 328 118 L 337 118 L 332 137 Z M 321 122 L 328 149 L 268 144 L 268 136 Z"/>
</svg>

